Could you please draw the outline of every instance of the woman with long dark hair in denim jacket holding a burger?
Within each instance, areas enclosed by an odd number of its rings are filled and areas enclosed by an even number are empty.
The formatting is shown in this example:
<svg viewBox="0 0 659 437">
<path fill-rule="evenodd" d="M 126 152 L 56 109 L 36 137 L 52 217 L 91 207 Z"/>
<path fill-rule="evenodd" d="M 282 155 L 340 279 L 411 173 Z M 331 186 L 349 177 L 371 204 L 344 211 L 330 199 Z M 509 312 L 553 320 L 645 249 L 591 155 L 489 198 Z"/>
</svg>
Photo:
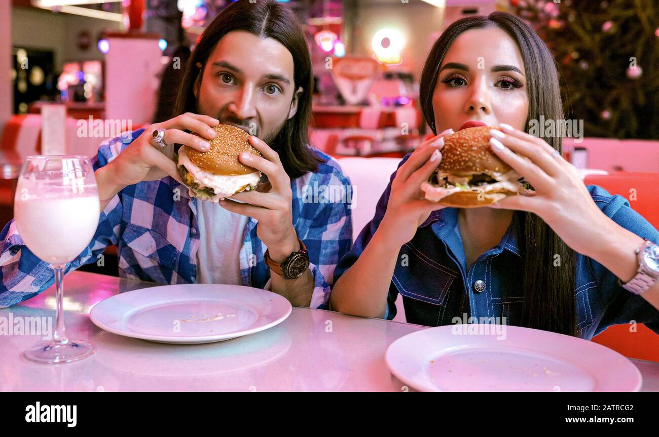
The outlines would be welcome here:
<svg viewBox="0 0 659 437">
<path fill-rule="evenodd" d="M 560 136 L 527 133 L 532 120 L 564 115 L 556 63 L 523 20 L 496 12 L 451 24 L 426 60 L 420 105 L 441 133 L 391 176 L 335 269 L 333 309 L 393 319 L 400 293 L 407 321 L 427 326 L 467 319 L 590 339 L 635 321 L 659 332 L 659 283 L 629 291 L 635 251 L 659 253 L 659 232 L 623 197 L 585 186 L 561 157 Z M 442 160 L 444 137 L 469 120 L 503 130 L 490 131 L 492 152 L 529 182 L 530 195 L 473 209 L 424 199 L 420 186 Z"/>
</svg>

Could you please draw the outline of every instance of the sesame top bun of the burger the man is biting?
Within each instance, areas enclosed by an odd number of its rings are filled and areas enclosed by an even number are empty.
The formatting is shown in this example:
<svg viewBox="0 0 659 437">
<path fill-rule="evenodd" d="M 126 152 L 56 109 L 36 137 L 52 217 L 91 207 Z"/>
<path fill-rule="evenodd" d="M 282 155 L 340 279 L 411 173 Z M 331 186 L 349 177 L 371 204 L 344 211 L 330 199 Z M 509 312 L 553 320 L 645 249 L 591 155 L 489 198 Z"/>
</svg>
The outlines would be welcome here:
<svg viewBox="0 0 659 437">
<path fill-rule="evenodd" d="M 238 155 L 249 152 L 257 156 L 261 153 L 249 143 L 249 134 L 229 124 L 219 124 L 213 128 L 217 136 L 213 140 L 204 141 L 210 143 L 210 149 L 205 152 L 198 151 L 192 147 L 186 148 L 186 154 L 192 163 L 199 168 L 223 176 L 237 176 L 256 172 L 256 168 L 248 167 L 241 163 Z M 194 134 L 202 138 L 200 135 Z"/>
</svg>

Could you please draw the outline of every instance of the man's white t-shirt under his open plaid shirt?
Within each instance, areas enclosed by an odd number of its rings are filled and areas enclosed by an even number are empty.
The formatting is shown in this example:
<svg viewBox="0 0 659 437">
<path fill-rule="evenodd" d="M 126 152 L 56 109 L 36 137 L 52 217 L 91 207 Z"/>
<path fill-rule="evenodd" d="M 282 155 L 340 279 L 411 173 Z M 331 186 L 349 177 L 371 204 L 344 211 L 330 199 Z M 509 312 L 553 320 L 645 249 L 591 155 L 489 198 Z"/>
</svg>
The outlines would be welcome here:
<svg viewBox="0 0 659 437">
<path fill-rule="evenodd" d="M 197 284 L 243 285 L 240 251 L 247 220 L 215 202 L 197 201 Z"/>
</svg>

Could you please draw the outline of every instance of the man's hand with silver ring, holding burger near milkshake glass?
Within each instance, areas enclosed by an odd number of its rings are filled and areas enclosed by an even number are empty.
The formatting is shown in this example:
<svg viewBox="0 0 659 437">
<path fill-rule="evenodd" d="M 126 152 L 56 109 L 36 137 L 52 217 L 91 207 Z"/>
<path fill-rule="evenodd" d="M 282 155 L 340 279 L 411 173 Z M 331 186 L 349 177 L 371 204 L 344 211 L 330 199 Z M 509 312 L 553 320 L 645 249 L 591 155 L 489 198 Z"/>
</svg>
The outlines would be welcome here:
<svg viewBox="0 0 659 437">
<path fill-rule="evenodd" d="M 184 130 L 197 132 L 200 136 L 212 140 L 216 135 L 212 127 L 218 124 L 219 120 L 215 118 L 192 113 L 185 113 L 161 123 L 151 124 L 116 159 L 96 170 L 101 200 L 109 201 L 123 188 L 143 180 L 158 180 L 171 176 L 183 183 L 176 163 L 163 154 L 161 148 L 155 143 L 154 131 L 165 130 L 163 138 L 165 146 L 178 143 L 205 151 L 208 149 L 208 142 L 184 132 Z M 101 211 L 107 205 L 107 201 L 105 203 L 101 201 Z"/>
</svg>

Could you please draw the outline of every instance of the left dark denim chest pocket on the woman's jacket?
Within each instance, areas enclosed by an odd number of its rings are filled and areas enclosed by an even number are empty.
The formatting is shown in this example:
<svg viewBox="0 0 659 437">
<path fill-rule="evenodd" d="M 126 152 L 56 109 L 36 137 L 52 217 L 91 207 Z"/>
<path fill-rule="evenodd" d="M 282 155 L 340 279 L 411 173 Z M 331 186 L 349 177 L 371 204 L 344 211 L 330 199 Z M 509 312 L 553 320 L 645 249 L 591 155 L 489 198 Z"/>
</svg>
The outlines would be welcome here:
<svg viewBox="0 0 659 437">
<path fill-rule="evenodd" d="M 458 273 L 441 265 L 410 243 L 403 245 L 393 270 L 393 284 L 404 297 L 434 305 L 445 305 Z"/>
</svg>

